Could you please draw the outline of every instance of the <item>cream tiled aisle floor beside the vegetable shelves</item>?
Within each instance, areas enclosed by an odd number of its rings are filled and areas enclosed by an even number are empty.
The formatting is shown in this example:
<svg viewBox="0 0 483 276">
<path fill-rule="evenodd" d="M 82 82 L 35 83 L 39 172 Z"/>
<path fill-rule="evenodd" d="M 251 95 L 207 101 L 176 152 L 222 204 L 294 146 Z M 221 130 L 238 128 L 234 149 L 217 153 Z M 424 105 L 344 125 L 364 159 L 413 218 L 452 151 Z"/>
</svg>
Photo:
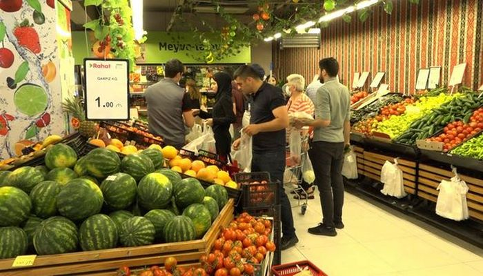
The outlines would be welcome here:
<svg viewBox="0 0 483 276">
<path fill-rule="evenodd" d="M 483 275 L 481 248 L 368 200 L 346 193 L 337 237 L 307 233 L 322 217 L 318 195 L 305 215 L 292 200 L 299 243 L 282 252 L 282 263 L 309 259 L 329 276 Z"/>
</svg>

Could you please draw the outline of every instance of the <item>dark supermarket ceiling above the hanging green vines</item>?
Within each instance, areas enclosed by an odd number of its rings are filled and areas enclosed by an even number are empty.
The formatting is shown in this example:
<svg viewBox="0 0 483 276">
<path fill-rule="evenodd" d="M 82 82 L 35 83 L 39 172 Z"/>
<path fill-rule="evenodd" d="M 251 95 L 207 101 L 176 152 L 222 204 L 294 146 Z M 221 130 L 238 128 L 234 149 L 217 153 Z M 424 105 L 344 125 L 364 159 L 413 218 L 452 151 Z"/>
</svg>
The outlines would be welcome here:
<svg viewBox="0 0 483 276">
<path fill-rule="evenodd" d="M 90 6 L 87 9 L 83 7 L 83 0 L 74 0 L 73 12 L 71 16 L 72 30 L 83 30 L 83 23 L 91 19 L 99 17 L 99 13 L 95 7 Z M 215 1 L 208 0 L 144 0 L 144 29 L 157 31 L 188 31 L 186 24 L 177 23 L 179 19 L 174 17 L 175 12 L 179 8 L 184 8 L 183 17 L 189 21 L 199 22 L 198 28 L 204 29 L 202 21 L 210 26 L 216 26 L 221 29 L 224 26 L 224 20 L 215 12 Z M 259 4 L 258 0 L 240 1 L 240 0 L 219 0 L 217 1 L 224 7 L 226 12 L 235 15 L 237 19 L 244 23 L 253 21 L 252 15 L 257 12 Z M 304 0 L 304 3 L 320 2 L 320 0 Z M 293 0 L 270 0 L 270 6 L 273 7 L 277 16 L 283 16 L 284 12 L 289 8 L 295 8 Z M 290 7 L 287 5 L 290 3 Z M 203 20 L 199 20 L 202 18 Z"/>
</svg>

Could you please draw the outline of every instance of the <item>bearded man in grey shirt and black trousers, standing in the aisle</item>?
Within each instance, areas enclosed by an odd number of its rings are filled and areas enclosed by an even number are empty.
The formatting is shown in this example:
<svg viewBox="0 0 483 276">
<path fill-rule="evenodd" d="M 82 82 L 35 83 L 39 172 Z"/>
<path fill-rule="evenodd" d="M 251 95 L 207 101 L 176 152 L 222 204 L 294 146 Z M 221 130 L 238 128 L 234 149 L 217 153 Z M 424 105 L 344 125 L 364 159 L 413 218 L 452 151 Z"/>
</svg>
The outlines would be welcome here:
<svg viewBox="0 0 483 276">
<path fill-rule="evenodd" d="M 322 59 L 319 68 L 324 85 L 317 90 L 315 97 L 315 120 L 299 119 L 296 126 L 314 128 L 311 161 L 323 218 L 321 224 L 308 228 L 308 233 L 333 237 L 337 235 L 335 228 L 344 228 L 342 164 L 351 132 L 351 95 L 337 79 L 339 63 L 334 58 Z"/>
</svg>

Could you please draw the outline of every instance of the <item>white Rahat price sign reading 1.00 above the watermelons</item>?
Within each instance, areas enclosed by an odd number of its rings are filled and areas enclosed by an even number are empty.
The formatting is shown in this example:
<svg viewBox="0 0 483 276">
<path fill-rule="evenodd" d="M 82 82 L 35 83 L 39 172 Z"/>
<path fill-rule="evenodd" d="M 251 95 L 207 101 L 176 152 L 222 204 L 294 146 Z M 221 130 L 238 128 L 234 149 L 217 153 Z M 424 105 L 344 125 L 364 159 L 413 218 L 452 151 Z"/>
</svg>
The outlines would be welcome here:
<svg viewBox="0 0 483 276">
<path fill-rule="evenodd" d="M 126 59 L 84 59 L 86 118 L 129 119 L 129 62 Z"/>
</svg>

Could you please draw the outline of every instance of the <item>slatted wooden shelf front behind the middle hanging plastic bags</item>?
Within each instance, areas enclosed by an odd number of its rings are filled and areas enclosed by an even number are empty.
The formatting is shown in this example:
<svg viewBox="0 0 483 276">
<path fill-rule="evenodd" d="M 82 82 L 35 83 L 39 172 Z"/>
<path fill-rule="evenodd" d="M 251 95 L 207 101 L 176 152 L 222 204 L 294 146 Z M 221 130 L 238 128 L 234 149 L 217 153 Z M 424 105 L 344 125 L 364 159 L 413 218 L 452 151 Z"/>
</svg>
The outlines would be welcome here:
<svg viewBox="0 0 483 276">
<path fill-rule="evenodd" d="M 395 157 L 388 155 L 380 155 L 375 152 L 369 152 L 364 150 L 364 167 L 362 175 L 369 177 L 371 179 L 380 181 L 381 180 L 381 169 L 386 161 L 394 161 Z M 398 159 L 397 163 L 399 168 L 403 172 L 404 177 L 404 190 L 406 193 L 415 195 L 416 194 L 416 180 L 417 180 L 417 170 L 416 162 L 409 161 L 406 159 Z"/>
</svg>

